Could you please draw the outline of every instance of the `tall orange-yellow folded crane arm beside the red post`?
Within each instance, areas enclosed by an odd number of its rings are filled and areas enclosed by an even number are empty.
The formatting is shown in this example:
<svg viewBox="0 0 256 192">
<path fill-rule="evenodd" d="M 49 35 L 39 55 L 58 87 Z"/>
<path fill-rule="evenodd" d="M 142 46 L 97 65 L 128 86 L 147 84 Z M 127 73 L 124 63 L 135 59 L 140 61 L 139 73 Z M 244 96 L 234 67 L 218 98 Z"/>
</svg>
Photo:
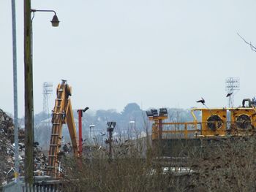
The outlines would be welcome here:
<svg viewBox="0 0 256 192">
<path fill-rule="evenodd" d="M 69 99 L 71 87 L 66 80 L 62 80 L 57 87 L 57 98 L 52 116 L 52 131 L 50 134 L 50 149 L 48 155 L 48 174 L 52 177 L 59 177 L 59 148 L 61 147 L 62 125 L 67 123 L 69 135 L 72 142 L 73 153 L 79 156 L 77 134 L 73 118 L 72 105 Z"/>
</svg>

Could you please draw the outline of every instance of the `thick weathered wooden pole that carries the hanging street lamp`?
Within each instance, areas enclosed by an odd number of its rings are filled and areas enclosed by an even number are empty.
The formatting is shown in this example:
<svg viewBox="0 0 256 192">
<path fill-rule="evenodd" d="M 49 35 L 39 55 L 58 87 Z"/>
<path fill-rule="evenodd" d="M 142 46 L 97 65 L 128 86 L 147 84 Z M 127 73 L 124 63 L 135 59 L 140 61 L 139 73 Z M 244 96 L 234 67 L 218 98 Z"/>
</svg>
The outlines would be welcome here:
<svg viewBox="0 0 256 192">
<path fill-rule="evenodd" d="M 31 0 L 24 0 L 24 85 L 25 85 L 25 183 L 31 189 L 34 178 L 34 104 L 31 59 Z"/>
</svg>

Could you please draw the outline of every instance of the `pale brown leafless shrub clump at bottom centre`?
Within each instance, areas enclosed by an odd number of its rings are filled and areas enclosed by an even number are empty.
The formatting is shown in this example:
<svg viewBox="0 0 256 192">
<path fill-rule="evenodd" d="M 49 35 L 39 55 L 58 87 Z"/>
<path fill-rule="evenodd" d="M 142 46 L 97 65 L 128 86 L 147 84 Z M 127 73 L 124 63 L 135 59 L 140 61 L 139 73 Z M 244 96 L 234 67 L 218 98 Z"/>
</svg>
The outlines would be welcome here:
<svg viewBox="0 0 256 192">
<path fill-rule="evenodd" d="M 146 143 L 146 141 L 145 141 Z M 162 172 L 153 164 L 153 152 L 142 157 L 142 142 L 123 143 L 114 146 L 113 158 L 94 151 L 92 163 L 88 158 L 77 160 L 65 158 L 64 180 L 68 180 L 67 191 L 187 191 L 187 178 L 176 177 L 171 171 Z M 126 150 L 126 153 L 120 151 Z M 150 152 L 152 150 L 148 150 Z M 157 171 L 161 169 L 161 171 Z"/>
</svg>

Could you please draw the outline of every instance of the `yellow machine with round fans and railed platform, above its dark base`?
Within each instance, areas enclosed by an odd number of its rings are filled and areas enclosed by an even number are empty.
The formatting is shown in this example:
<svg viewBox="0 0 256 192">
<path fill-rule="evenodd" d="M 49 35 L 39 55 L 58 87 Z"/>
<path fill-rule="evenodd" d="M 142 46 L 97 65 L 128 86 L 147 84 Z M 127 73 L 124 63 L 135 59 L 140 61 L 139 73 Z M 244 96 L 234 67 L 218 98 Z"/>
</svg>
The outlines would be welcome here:
<svg viewBox="0 0 256 192">
<path fill-rule="evenodd" d="M 248 106 L 245 106 L 246 101 Z M 196 111 L 200 111 L 200 120 L 196 118 Z M 193 122 L 163 122 L 167 119 L 166 109 L 160 109 L 159 115 L 157 110 L 146 113 L 148 119 L 154 121 L 152 140 L 239 136 L 256 131 L 256 107 L 250 99 L 244 99 L 242 107 L 236 108 L 194 108 L 191 110 Z"/>
</svg>

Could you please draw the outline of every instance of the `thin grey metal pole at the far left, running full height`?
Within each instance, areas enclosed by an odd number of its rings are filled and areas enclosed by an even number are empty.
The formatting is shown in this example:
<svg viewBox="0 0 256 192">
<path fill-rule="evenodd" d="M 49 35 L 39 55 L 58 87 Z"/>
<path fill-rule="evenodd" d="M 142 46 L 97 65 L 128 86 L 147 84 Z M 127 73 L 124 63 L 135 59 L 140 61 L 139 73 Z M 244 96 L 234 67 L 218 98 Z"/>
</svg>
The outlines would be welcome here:
<svg viewBox="0 0 256 192">
<path fill-rule="evenodd" d="M 16 10 L 12 0 L 12 61 L 13 61 L 13 106 L 14 106 L 14 141 L 15 141 L 15 182 L 19 181 L 19 144 L 18 144 L 18 91 L 17 91 L 17 50 L 16 50 Z M 16 191 L 20 191 L 17 185 Z"/>
</svg>

